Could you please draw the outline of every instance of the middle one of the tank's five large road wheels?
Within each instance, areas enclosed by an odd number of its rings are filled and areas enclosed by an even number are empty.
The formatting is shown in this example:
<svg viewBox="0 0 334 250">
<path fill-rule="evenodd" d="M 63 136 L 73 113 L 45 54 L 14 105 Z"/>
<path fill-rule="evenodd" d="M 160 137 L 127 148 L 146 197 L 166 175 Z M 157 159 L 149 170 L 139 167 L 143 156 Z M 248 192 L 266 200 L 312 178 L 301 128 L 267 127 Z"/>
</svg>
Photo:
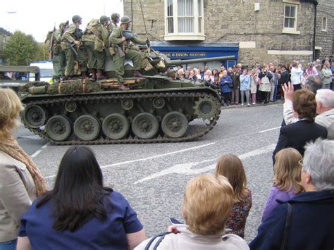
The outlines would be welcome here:
<svg viewBox="0 0 334 250">
<path fill-rule="evenodd" d="M 110 139 L 124 138 L 128 135 L 129 128 L 130 124 L 128 119 L 120 113 L 108 115 L 102 123 L 104 135 Z"/>
</svg>

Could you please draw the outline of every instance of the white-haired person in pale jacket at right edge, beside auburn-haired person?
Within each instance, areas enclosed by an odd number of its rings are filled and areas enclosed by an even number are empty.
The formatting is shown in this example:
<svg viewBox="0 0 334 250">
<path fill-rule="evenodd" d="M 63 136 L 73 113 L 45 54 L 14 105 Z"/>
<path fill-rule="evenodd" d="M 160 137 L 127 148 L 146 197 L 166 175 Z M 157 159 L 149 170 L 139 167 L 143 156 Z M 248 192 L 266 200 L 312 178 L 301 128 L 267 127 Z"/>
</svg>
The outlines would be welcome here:
<svg viewBox="0 0 334 250">
<path fill-rule="evenodd" d="M 330 89 L 318 89 L 316 92 L 315 123 L 326 127 L 327 139 L 334 139 L 334 92 Z M 333 149 L 334 150 L 334 149 Z"/>
</svg>

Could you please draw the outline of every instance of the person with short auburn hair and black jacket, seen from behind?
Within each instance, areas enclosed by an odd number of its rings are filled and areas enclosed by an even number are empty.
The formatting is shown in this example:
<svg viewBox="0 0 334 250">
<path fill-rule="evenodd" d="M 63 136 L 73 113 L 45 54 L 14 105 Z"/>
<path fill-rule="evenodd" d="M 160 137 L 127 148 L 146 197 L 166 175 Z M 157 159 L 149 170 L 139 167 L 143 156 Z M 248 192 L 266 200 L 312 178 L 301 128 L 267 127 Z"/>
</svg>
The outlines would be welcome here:
<svg viewBox="0 0 334 250">
<path fill-rule="evenodd" d="M 278 143 L 273 151 L 273 163 L 275 163 L 275 155 L 280 149 L 291 147 L 297 149 L 303 156 L 304 146 L 307 142 L 315 141 L 318 137 L 327 138 L 326 127 L 314 123 L 316 98 L 309 89 L 299 89 L 293 93 L 292 112 L 298 120 L 280 128 Z"/>
</svg>

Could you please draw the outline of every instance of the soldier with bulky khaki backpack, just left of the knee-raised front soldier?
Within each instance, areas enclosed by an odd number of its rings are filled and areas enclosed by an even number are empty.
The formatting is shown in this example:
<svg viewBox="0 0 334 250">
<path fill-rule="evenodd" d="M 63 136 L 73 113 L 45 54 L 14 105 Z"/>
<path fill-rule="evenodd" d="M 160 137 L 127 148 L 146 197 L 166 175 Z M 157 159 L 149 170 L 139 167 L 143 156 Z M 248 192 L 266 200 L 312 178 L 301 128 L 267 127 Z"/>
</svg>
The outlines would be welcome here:
<svg viewBox="0 0 334 250">
<path fill-rule="evenodd" d="M 104 63 L 106 61 L 106 52 L 104 48 L 108 45 L 108 27 L 109 17 L 101 15 L 99 20 L 92 20 L 82 36 L 85 49 L 88 54 L 87 68 L 92 73 L 93 80 L 106 79 L 102 74 Z"/>
</svg>

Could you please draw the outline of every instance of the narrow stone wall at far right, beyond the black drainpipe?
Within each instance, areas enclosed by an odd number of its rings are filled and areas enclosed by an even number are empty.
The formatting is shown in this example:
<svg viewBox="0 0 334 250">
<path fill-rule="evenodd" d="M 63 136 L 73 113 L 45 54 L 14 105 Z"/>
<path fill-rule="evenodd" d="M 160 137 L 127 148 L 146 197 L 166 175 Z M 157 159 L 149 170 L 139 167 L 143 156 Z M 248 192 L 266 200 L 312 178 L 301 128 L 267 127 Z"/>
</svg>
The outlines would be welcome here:
<svg viewBox="0 0 334 250">
<path fill-rule="evenodd" d="M 320 58 L 334 54 L 334 1 L 318 0 L 316 7 L 316 46 L 321 47 Z M 327 32 L 321 31 L 322 19 L 327 18 Z"/>
</svg>

